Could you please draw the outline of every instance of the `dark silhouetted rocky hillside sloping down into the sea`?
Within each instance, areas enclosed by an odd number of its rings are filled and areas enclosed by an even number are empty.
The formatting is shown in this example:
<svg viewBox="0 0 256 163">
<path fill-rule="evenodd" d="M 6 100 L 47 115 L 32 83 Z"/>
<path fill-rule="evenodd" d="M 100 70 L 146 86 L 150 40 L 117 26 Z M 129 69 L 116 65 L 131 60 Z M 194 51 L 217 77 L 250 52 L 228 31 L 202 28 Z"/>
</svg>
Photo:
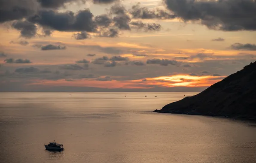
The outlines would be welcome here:
<svg viewBox="0 0 256 163">
<path fill-rule="evenodd" d="M 256 118 L 256 62 L 192 97 L 154 112 Z"/>
</svg>

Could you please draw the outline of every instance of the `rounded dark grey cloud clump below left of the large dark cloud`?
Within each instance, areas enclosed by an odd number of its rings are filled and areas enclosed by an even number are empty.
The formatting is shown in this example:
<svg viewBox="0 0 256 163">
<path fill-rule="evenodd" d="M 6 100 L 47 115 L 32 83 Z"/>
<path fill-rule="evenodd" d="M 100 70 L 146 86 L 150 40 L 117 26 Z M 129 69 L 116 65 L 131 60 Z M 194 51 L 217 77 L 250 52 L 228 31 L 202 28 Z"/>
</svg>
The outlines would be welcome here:
<svg viewBox="0 0 256 163">
<path fill-rule="evenodd" d="M 16 30 L 20 30 L 21 37 L 30 39 L 31 37 L 36 36 L 37 26 L 29 21 L 14 21 L 12 27 Z"/>
</svg>

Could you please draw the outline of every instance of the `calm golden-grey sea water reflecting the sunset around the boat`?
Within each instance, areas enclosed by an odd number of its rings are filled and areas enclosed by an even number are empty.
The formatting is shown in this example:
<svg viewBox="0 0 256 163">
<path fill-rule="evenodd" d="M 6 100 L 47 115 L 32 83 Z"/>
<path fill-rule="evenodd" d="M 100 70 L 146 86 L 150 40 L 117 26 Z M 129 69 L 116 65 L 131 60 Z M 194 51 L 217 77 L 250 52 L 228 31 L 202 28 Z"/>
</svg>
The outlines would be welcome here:
<svg viewBox="0 0 256 163">
<path fill-rule="evenodd" d="M 0 93 L 0 162 L 256 163 L 256 124 L 152 112 L 184 94 Z"/>
</svg>

